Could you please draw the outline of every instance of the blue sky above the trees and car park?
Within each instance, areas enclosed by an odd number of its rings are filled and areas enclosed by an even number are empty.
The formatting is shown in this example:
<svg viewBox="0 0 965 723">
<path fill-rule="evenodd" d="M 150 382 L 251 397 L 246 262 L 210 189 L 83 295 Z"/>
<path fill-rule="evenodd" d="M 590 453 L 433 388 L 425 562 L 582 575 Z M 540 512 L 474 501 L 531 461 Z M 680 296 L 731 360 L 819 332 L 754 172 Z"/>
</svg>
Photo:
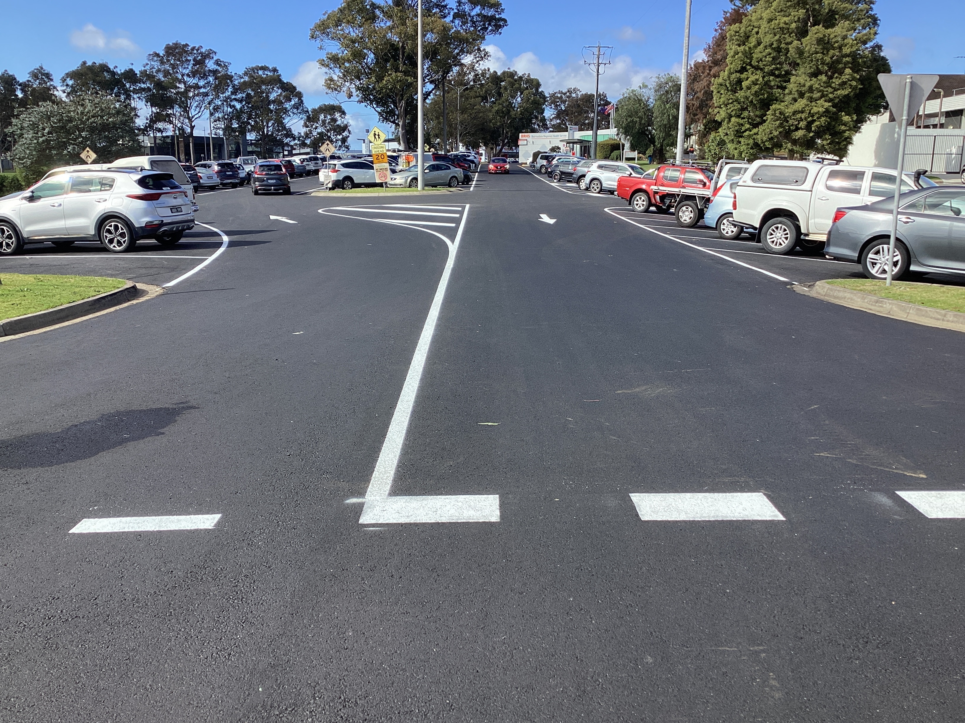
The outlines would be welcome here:
<svg viewBox="0 0 965 723">
<path fill-rule="evenodd" d="M 683 0 L 503 0 L 509 26 L 488 40 L 491 65 L 537 76 L 547 91 L 577 86 L 593 91 L 593 76 L 581 61 L 583 45 L 613 45 L 613 65 L 601 79 L 611 97 L 652 75 L 679 71 Z M 880 40 L 897 71 L 965 73 L 963 0 L 879 0 Z M 43 64 L 59 79 L 82 60 L 141 67 L 144 57 L 166 42 L 211 47 L 235 71 L 277 66 L 315 105 L 330 102 L 308 31 L 338 0 L 285 0 L 277 4 L 219 0 L 187 5 L 151 3 L 9 2 L 3 11 L 0 68 L 22 78 Z M 713 34 L 728 0 L 694 0 L 691 55 Z M 923 11 L 924 9 L 924 11 Z M 937 22 L 936 22 L 937 21 Z M 942 30 L 936 32 L 936 28 Z M 375 121 L 368 109 L 346 103 L 352 137 Z"/>
</svg>

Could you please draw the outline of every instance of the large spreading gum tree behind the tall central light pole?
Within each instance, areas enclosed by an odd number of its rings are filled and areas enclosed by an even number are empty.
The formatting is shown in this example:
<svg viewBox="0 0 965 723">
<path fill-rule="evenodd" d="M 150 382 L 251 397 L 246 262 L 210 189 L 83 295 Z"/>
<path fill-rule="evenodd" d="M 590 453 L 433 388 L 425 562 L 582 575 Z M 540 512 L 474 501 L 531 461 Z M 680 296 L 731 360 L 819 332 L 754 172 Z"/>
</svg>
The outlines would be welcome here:
<svg viewBox="0 0 965 723">
<path fill-rule="evenodd" d="M 395 123 L 400 143 L 411 145 L 415 115 L 418 18 L 416 0 L 344 0 L 312 27 L 326 51 L 318 65 L 325 86 L 357 98 L 380 120 Z M 506 25 L 499 0 L 424 0 L 423 61 L 428 84 L 440 87 L 462 61 L 484 54 L 486 37 Z"/>
</svg>

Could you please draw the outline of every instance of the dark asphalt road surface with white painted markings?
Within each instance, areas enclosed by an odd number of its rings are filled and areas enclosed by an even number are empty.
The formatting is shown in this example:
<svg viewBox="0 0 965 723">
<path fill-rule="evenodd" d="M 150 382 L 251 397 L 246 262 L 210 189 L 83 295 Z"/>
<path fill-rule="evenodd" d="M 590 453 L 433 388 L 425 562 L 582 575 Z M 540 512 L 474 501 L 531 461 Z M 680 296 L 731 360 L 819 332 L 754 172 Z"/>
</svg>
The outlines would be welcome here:
<svg viewBox="0 0 965 723">
<path fill-rule="evenodd" d="M 961 720 L 965 337 L 574 190 L 0 259 L 172 284 L 0 343 L 0 719 Z"/>
</svg>

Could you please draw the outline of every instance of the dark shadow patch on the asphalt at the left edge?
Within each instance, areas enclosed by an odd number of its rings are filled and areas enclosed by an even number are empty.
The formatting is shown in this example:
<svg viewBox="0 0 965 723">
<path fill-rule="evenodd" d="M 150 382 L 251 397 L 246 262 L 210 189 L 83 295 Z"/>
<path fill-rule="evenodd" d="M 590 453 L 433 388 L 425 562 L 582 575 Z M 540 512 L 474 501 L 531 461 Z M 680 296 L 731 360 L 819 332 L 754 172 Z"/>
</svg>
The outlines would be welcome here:
<svg viewBox="0 0 965 723">
<path fill-rule="evenodd" d="M 194 405 L 152 407 L 100 415 L 56 432 L 0 440 L 0 469 L 38 469 L 90 459 L 129 442 L 160 437 Z"/>
</svg>

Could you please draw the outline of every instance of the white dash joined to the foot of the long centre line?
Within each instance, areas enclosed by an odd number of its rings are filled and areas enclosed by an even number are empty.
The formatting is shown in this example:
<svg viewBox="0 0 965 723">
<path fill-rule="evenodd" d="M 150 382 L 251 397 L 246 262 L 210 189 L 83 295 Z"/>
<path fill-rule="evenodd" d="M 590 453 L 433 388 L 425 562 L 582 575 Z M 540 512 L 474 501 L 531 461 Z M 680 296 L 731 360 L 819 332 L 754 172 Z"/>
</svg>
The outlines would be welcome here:
<svg viewBox="0 0 965 723">
<path fill-rule="evenodd" d="M 499 522 L 499 495 L 423 495 L 367 499 L 359 524 Z"/>
</svg>

